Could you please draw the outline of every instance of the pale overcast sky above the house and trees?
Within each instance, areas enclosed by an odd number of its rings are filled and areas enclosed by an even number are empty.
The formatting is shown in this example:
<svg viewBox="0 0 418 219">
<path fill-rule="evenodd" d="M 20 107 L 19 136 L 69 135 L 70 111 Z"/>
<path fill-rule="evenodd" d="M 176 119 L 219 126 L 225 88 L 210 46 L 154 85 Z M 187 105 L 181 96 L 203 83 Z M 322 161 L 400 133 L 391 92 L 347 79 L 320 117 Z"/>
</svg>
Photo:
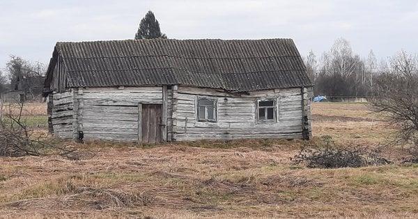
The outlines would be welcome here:
<svg viewBox="0 0 418 219">
<path fill-rule="evenodd" d="M 0 67 L 10 54 L 47 64 L 57 41 L 134 38 L 148 10 L 169 38 L 293 38 L 317 56 L 340 37 L 362 56 L 418 49 L 416 0 L 0 0 Z"/>
</svg>

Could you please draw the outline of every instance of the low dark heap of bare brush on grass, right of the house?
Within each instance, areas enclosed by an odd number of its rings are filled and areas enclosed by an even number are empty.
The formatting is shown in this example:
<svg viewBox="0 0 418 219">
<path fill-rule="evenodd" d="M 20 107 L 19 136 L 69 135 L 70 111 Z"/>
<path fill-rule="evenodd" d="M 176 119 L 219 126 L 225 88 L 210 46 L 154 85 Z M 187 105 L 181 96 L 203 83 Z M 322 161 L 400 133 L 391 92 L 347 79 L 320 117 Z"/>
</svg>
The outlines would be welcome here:
<svg viewBox="0 0 418 219">
<path fill-rule="evenodd" d="M 368 165 L 392 163 L 380 156 L 381 149 L 359 147 L 335 147 L 330 137 L 325 137 L 324 147 L 304 147 L 293 158 L 294 163 L 302 163 L 308 168 L 359 168 Z"/>
</svg>

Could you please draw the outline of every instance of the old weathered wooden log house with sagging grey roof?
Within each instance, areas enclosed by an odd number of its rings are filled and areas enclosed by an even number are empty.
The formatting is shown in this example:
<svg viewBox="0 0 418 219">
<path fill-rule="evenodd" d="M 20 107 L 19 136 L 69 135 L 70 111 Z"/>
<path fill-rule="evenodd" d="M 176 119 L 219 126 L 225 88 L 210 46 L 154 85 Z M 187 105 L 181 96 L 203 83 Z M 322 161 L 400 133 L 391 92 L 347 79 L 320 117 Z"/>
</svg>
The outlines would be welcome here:
<svg viewBox="0 0 418 219">
<path fill-rule="evenodd" d="M 56 43 L 45 79 L 61 138 L 309 138 L 312 83 L 291 39 Z"/>
</svg>

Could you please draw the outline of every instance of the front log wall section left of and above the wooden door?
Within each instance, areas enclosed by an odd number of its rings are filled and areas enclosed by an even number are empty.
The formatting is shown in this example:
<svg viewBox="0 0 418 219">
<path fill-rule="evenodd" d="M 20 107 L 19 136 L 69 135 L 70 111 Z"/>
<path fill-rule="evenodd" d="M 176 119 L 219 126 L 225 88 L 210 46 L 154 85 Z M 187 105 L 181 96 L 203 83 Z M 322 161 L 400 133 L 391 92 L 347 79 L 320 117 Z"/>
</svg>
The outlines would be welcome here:
<svg viewBox="0 0 418 219">
<path fill-rule="evenodd" d="M 163 86 L 79 88 L 77 100 L 74 133 L 82 132 L 84 140 L 138 141 L 139 104 L 162 104 Z"/>
</svg>

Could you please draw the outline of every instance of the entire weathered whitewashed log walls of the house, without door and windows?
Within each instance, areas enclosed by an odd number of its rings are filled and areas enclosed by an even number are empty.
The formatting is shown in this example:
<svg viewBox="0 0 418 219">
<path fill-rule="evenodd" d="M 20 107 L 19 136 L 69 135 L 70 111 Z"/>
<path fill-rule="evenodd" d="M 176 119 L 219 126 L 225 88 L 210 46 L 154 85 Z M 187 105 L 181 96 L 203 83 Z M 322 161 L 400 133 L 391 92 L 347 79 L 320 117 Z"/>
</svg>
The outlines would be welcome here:
<svg viewBox="0 0 418 219">
<path fill-rule="evenodd" d="M 167 115 L 162 123 L 167 132 L 163 132 L 163 140 L 311 136 L 311 88 L 247 93 L 183 86 L 73 88 L 51 96 L 52 130 L 61 138 L 77 139 L 82 133 L 84 140 L 138 141 L 139 104 L 165 105 Z M 216 100 L 216 122 L 197 120 L 196 104 L 201 97 Z M 274 122 L 257 120 L 257 101 L 263 99 L 274 99 Z"/>
</svg>

